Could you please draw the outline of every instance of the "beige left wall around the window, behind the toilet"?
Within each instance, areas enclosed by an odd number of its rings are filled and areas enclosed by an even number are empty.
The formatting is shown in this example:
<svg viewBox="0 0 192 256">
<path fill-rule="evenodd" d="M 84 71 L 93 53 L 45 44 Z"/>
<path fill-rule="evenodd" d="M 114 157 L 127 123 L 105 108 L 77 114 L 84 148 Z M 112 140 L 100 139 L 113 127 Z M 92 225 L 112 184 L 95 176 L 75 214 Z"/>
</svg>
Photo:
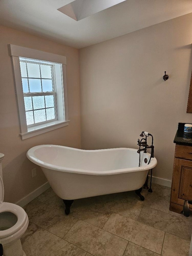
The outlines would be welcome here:
<svg viewBox="0 0 192 256">
<path fill-rule="evenodd" d="M 70 123 L 26 140 L 21 140 L 14 91 L 11 59 L 7 44 L 15 44 L 67 57 L 67 96 Z M 16 202 L 46 182 L 40 168 L 26 157 L 35 145 L 58 144 L 80 148 L 80 100 L 78 50 L 62 44 L 0 26 L 0 152 L 2 162 L 4 201 Z M 32 178 L 31 170 L 37 168 Z"/>
</svg>

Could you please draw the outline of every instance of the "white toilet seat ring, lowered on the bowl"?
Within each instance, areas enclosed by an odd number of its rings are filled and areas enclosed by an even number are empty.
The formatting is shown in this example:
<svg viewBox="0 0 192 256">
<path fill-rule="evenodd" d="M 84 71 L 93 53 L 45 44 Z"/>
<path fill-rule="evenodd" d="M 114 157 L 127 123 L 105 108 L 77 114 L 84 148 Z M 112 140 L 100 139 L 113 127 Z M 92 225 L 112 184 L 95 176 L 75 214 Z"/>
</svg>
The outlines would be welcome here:
<svg viewBox="0 0 192 256">
<path fill-rule="evenodd" d="M 27 214 L 24 209 L 14 203 L 0 202 L 0 214 L 2 212 L 12 212 L 17 217 L 17 222 L 6 230 L 0 230 L 0 239 L 16 233 L 25 224 Z"/>
</svg>

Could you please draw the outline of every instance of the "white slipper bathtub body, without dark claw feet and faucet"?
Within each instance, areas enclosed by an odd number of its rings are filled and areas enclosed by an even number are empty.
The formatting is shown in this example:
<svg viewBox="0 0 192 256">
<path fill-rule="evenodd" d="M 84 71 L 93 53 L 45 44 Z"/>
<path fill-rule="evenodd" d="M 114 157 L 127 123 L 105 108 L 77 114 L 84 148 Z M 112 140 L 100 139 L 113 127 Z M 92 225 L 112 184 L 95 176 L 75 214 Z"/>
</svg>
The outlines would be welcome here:
<svg viewBox="0 0 192 256">
<path fill-rule="evenodd" d="M 40 145 L 28 150 L 27 157 L 41 166 L 55 194 L 74 200 L 140 189 L 156 158 L 137 149 L 82 150 L 57 145 Z M 147 158 L 147 163 L 144 159 Z M 144 200 L 144 199 L 143 199 Z"/>
</svg>

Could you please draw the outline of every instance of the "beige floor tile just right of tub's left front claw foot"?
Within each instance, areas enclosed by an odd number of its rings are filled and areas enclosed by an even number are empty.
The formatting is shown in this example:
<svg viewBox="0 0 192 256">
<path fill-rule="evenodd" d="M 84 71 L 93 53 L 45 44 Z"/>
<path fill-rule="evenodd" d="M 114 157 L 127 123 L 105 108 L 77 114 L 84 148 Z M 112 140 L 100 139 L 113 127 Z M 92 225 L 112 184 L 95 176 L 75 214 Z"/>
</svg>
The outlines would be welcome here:
<svg viewBox="0 0 192 256">
<path fill-rule="evenodd" d="M 102 205 L 91 204 L 71 207 L 70 215 L 102 228 L 112 212 Z"/>
</svg>

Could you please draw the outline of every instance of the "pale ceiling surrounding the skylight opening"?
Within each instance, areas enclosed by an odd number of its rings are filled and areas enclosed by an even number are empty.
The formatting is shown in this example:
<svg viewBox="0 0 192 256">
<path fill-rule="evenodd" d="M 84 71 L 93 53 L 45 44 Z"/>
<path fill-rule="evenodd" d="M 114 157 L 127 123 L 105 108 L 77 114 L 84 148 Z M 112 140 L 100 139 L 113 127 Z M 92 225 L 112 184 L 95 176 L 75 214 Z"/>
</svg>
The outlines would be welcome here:
<svg viewBox="0 0 192 256">
<path fill-rule="evenodd" d="M 76 21 L 57 10 L 71 2 L 0 0 L 0 24 L 82 48 L 192 13 L 191 0 L 126 0 Z"/>
</svg>

